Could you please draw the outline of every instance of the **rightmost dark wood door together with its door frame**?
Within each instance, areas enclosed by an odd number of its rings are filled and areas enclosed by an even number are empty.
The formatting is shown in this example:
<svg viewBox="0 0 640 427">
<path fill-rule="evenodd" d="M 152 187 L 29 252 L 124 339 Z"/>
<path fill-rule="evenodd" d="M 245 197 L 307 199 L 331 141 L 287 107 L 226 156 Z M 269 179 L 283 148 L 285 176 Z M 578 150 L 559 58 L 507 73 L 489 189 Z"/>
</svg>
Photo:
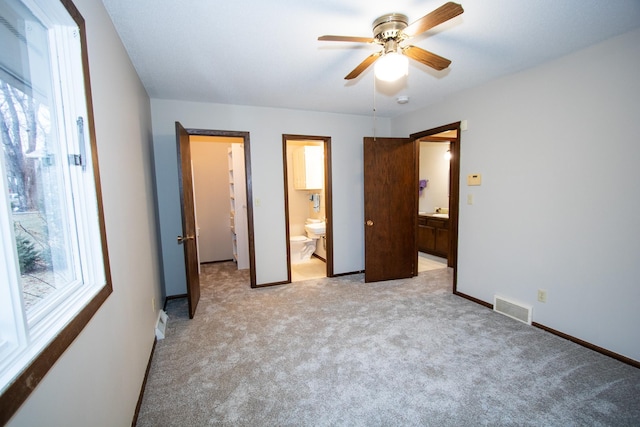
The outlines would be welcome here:
<svg viewBox="0 0 640 427">
<path fill-rule="evenodd" d="M 456 292 L 460 122 L 409 138 L 364 138 L 365 282 L 418 274 L 418 140 L 446 131 L 450 144 L 447 264 Z"/>
</svg>

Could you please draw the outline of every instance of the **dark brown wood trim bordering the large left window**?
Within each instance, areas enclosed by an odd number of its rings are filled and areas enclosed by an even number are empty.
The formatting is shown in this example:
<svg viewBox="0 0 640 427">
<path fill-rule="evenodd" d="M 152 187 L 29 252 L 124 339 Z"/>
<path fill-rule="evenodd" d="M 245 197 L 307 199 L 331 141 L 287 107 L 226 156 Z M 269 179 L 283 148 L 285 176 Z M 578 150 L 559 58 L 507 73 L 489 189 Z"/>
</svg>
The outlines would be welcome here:
<svg viewBox="0 0 640 427">
<path fill-rule="evenodd" d="M 84 93 L 87 113 L 87 132 L 89 141 L 86 141 L 91 151 L 91 166 L 95 185 L 95 202 L 98 212 L 98 228 L 102 250 L 102 264 L 104 266 L 104 284 L 98 285 L 99 289 L 89 299 L 86 305 L 57 332 L 44 347 L 28 363 L 24 369 L 7 385 L 0 395 L 0 425 L 6 424 L 16 413 L 27 397 L 35 390 L 39 382 L 44 378 L 49 369 L 71 345 L 75 338 L 82 332 L 93 315 L 113 292 L 111 280 L 111 268 L 107 250 L 106 228 L 102 203 L 102 190 L 100 185 L 100 172 L 98 167 L 98 150 L 93 116 L 93 101 L 91 97 L 91 82 L 89 78 L 89 59 L 87 54 L 87 40 L 85 21 L 71 0 L 59 0 L 69 16 L 76 23 L 80 38 L 80 55 L 84 82 Z M 1 343 L 0 343 L 1 344 Z"/>
</svg>

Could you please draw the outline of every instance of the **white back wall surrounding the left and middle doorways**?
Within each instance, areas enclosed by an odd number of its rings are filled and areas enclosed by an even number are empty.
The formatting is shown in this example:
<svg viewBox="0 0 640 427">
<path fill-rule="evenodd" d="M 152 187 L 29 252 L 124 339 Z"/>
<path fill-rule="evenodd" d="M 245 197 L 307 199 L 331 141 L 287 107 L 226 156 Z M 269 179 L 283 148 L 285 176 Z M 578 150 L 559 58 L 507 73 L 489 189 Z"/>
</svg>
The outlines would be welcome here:
<svg viewBox="0 0 640 427">
<path fill-rule="evenodd" d="M 330 136 L 333 167 L 333 236 L 336 274 L 362 270 L 362 138 L 373 134 L 366 116 L 275 108 L 151 100 L 164 277 L 167 295 L 186 292 L 181 233 L 175 122 L 186 128 L 250 133 L 253 215 L 258 284 L 287 279 L 282 135 Z M 378 135 L 389 120 L 378 118 Z"/>
</svg>

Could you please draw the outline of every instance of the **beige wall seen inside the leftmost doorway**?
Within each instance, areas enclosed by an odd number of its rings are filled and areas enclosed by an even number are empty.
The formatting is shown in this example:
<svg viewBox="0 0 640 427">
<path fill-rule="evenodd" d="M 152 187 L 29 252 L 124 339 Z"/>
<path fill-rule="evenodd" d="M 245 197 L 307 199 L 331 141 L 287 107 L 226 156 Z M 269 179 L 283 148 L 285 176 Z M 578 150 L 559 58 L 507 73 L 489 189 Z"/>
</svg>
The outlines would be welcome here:
<svg viewBox="0 0 640 427">
<path fill-rule="evenodd" d="M 200 262 L 233 259 L 229 228 L 229 143 L 191 141 Z"/>
</svg>

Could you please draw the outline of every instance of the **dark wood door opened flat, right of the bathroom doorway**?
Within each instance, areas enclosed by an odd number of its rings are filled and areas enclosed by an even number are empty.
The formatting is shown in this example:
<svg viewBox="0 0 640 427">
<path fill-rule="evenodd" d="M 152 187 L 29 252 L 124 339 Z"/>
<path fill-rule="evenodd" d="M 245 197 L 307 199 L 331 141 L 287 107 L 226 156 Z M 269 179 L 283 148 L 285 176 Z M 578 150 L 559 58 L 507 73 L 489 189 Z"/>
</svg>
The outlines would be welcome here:
<svg viewBox="0 0 640 427">
<path fill-rule="evenodd" d="M 364 139 L 365 282 L 418 274 L 415 147 L 409 138 Z"/>
</svg>

